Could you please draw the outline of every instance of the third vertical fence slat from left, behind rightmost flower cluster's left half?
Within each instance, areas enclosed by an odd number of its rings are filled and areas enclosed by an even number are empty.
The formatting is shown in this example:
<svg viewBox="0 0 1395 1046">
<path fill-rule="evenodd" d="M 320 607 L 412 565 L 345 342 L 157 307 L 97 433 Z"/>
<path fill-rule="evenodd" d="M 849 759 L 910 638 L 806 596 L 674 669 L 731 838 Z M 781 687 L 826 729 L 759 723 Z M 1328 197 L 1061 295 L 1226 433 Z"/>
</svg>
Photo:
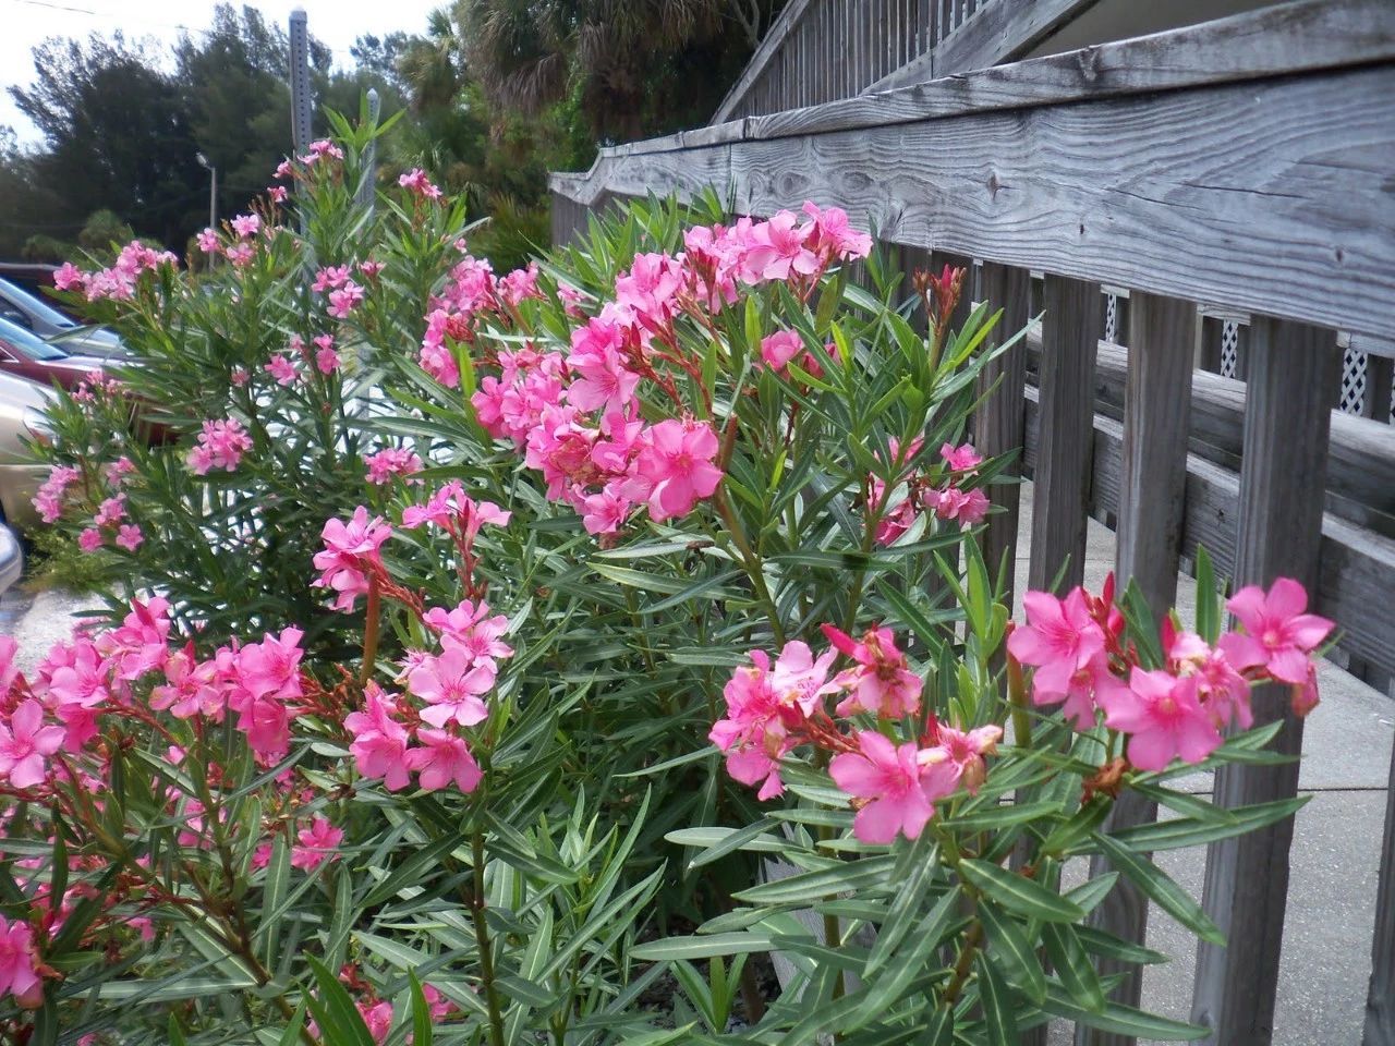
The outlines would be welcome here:
<svg viewBox="0 0 1395 1046">
<path fill-rule="evenodd" d="M 1191 420 L 1191 339 L 1197 307 L 1189 301 L 1134 293 L 1124 385 L 1124 439 L 1119 491 L 1115 570 L 1120 589 L 1133 580 L 1158 621 L 1177 596 L 1177 555 L 1187 485 L 1187 428 Z M 1117 340 L 1124 340 L 1119 338 Z M 1108 830 L 1145 824 L 1158 805 L 1138 795 L 1119 796 Z M 1098 855 L 1091 877 L 1109 872 Z M 1092 914 L 1091 923 L 1124 940 L 1143 943 L 1148 898 L 1120 879 Z M 1101 960 L 1099 972 L 1124 973 L 1113 999 L 1138 1006 L 1143 969 Z M 1133 1046 L 1127 1035 L 1077 1025 L 1076 1046 Z"/>
</svg>

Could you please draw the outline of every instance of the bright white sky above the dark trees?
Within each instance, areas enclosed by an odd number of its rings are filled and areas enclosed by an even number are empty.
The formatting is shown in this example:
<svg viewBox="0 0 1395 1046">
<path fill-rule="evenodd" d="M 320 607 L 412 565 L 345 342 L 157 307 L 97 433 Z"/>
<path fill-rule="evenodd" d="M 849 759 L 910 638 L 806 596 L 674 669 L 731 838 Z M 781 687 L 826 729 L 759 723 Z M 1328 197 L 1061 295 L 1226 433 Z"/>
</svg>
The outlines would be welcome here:
<svg viewBox="0 0 1395 1046">
<path fill-rule="evenodd" d="M 241 7 L 241 4 L 237 4 Z M 442 0 L 289 0 L 258 3 L 268 21 L 286 25 L 294 7 L 306 11 L 310 33 L 335 52 L 336 66 L 349 66 L 349 47 L 359 36 L 382 36 L 395 29 L 424 32 L 427 15 Z M 33 81 L 31 49 L 49 36 L 109 35 L 152 38 L 173 43 L 184 31 L 206 29 L 215 0 L 0 0 L 0 86 L 28 86 Z M 289 117 L 287 117 L 289 119 Z M 33 124 L 15 109 L 10 92 L 0 96 L 0 124 L 14 127 L 22 144 L 36 144 Z"/>
</svg>

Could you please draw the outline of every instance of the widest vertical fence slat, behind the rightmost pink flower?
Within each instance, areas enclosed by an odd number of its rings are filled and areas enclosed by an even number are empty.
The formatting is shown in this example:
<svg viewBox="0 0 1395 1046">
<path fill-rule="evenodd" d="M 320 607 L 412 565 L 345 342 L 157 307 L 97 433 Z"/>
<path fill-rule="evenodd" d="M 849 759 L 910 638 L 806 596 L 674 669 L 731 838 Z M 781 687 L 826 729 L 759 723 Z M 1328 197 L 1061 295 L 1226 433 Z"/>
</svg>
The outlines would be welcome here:
<svg viewBox="0 0 1395 1046">
<path fill-rule="evenodd" d="M 1244 409 L 1243 463 L 1235 583 L 1268 586 L 1296 577 L 1315 591 L 1322 537 L 1331 404 L 1341 353 L 1329 331 L 1254 318 Z M 1289 711 L 1289 688 L 1268 685 L 1253 695 L 1256 725 L 1278 720 L 1278 752 L 1296 756 L 1303 722 Z M 1285 799 L 1297 794 L 1297 761 L 1283 766 L 1223 766 L 1215 799 L 1223 806 Z M 1240 838 L 1211 844 L 1204 907 L 1226 934 L 1226 947 L 1197 950 L 1191 1020 L 1212 1029 L 1214 1046 L 1268 1046 L 1283 941 L 1293 819 Z"/>
</svg>

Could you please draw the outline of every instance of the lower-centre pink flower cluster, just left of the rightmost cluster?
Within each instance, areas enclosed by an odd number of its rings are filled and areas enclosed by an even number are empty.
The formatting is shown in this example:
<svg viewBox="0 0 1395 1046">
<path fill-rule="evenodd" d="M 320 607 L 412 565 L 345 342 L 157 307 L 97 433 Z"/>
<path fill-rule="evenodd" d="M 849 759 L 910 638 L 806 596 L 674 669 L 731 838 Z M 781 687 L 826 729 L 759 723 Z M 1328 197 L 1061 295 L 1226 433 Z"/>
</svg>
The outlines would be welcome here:
<svg viewBox="0 0 1395 1046">
<path fill-rule="evenodd" d="M 834 710 L 843 718 L 875 713 L 900 721 L 919 711 L 922 683 L 890 629 L 868 629 L 861 640 L 831 625 L 823 632 L 833 646 L 819 657 L 801 640 L 785 643 L 774 664 L 766 651 L 751 651 L 751 667 L 738 668 L 723 693 L 727 718 L 709 736 L 727 755 L 727 771 L 742 784 L 759 784 L 762 799 L 784 791 L 780 760 L 795 748 L 833 752 L 829 773 L 852 796 L 857 837 L 873 844 L 898 833 L 915 838 L 936 801 L 958 788 L 978 791 L 988 773 L 985 756 L 993 755 L 1003 731 L 960 731 L 932 715 L 925 734 L 903 745 L 876 729 L 852 727 L 844 734 L 826 697 L 843 695 Z M 840 654 L 851 665 L 830 678 Z"/>
</svg>

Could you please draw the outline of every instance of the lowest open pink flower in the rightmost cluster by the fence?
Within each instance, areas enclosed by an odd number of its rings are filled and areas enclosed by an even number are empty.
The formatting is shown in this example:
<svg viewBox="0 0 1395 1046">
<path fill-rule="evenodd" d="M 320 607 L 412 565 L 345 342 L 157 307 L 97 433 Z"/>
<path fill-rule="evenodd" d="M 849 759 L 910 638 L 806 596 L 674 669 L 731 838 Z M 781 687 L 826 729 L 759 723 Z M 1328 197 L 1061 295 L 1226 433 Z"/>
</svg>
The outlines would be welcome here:
<svg viewBox="0 0 1395 1046">
<path fill-rule="evenodd" d="M 1129 761 L 1162 770 L 1180 756 L 1200 763 L 1221 745 L 1215 720 L 1197 700 L 1196 676 L 1134 668 L 1129 688 L 1105 704 L 1105 725 L 1130 734 Z"/>
</svg>

